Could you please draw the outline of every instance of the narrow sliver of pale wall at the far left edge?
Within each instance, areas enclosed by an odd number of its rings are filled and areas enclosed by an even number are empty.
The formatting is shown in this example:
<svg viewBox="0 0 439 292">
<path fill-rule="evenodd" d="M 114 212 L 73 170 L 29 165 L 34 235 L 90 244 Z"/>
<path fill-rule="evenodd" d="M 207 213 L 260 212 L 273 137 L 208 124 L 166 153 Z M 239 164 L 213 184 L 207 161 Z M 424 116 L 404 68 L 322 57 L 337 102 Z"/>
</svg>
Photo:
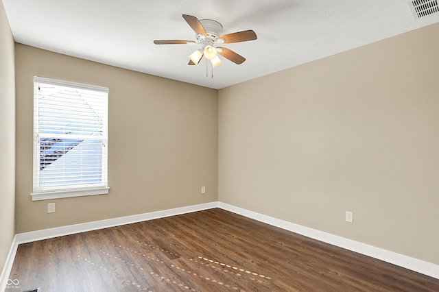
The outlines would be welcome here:
<svg viewBox="0 0 439 292">
<path fill-rule="evenodd" d="M 0 272 L 14 239 L 15 73 L 14 39 L 0 1 Z"/>
</svg>

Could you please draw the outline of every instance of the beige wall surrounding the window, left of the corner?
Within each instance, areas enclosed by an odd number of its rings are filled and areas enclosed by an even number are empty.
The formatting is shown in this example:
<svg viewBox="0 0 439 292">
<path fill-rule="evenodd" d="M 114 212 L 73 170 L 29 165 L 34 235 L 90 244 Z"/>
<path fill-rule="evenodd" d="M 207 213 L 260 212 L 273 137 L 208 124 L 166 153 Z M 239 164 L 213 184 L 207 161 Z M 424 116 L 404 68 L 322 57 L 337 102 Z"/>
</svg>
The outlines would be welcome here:
<svg viewBox="0 0 439 292">
<path fill-rule="evenodd" d="M 17 233 L 217 201 L 217 90 L 20 44 L 15 53 Z M 108 195 L 32 202 L 34 75 L 110 88 Z"/>
</svg>

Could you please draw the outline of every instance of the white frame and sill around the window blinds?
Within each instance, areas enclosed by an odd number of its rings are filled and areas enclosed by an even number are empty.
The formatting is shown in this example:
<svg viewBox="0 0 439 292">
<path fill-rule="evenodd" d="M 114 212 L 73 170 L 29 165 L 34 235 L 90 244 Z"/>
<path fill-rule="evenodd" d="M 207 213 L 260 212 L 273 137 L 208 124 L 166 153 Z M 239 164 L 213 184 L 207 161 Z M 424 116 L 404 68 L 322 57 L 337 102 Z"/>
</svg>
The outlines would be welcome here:
<svg viewBox="0 0 439 292">
<path fill-rule="evenodd" d="M 48 84 L 53 86 L 63 86 L 75 88 L 79 90 L 93 90 L 104 93 L 104 119 L 103 131 L 104 135 L 97 138 L 102 141 L 102 180 L 97 184 L 72 184 L 69 186 L 40 186 L 40 130 L 39 130 L 39 99 L 36 93 L 36 84 Z M 34 76 L 34 122 L 33 122 L 33 151 L 32 151 L 32 174 L 33 174 L 33 191 L 31 193 L 32 201 L 44 199 L 60 199 L 64 197 L 80 197 L 87 195 L 104 195 L 108 194 L 110 189 L 108 186 L 108 92 L 109 88 L 102 86 L 93 86 L 88 84 L 80 84 L 75 82 L 67 82 L 62 80 L 54 80 L 51 78 Z M 46 134 L 47 135 L 47 134 Z M 65 134 L 60 134 L 65 135 Z M 72 136 L 74 138 L 74 136 Z M 72 148 L 73 149 L 73 148 Z M 67 152 L 66 152 L 67 153 Z"/>
</svg>

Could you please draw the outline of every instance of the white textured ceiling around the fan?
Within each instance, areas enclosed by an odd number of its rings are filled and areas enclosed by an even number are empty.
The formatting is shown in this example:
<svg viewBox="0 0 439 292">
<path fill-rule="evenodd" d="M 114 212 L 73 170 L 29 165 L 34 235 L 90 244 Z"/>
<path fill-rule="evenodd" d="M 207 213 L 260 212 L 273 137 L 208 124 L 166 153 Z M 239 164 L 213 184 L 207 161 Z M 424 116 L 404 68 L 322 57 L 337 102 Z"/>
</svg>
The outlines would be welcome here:
<svg viewBox="0 0 439 292">
<path fill-rule="evenodd" d="M 406 0 L 3 0 L 16 42 L 143 73 L 224 88 L 439 22 L 415 19 Z M 222 23 L 224 34 L 253 29 L 258 39 L 225 44 L 228 60 L 206 77 L 188 66 L 199 45 L 182 14 Z M 210 72 L 210 69 L 209 69 Z"/>
</svg>

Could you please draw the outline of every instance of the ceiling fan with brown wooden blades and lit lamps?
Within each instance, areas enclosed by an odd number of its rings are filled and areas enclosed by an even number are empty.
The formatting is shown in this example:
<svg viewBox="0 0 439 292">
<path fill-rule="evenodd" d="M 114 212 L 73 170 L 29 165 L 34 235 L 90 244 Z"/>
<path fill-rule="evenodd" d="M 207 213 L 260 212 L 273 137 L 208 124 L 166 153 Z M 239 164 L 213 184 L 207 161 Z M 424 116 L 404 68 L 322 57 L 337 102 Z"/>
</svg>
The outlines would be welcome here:
<svg viewBox="0 0 439 292">
<path fill-rule="evenodd" d="M 212 68 L 222 63 L 218 54 L 224 58 L 234 62 L 235 64 L 242 64 L 246 58 L 227 49 L 226 47 L 219 47 L 218 45 L 230 44 L 232 42 L 246 42 L 248 40 L 256 40 L 257 35 L 251 30 L 242 32 L 234 32 L 232 34 L 220 35 L 222 32 L 222 25 L 217 21 L 211 19 L 198 20 L 195 16 L 182 14 L 183 19 L 195 32 L 194 40 L 154 40 L 156 45 L 174 45 L 174 44 L 200 44 L 201 49 L 195 50 L 189 55 L 188 65 L 197 65 L 200 60 L 206 58 L 212 63 Z"/>
</svg>

